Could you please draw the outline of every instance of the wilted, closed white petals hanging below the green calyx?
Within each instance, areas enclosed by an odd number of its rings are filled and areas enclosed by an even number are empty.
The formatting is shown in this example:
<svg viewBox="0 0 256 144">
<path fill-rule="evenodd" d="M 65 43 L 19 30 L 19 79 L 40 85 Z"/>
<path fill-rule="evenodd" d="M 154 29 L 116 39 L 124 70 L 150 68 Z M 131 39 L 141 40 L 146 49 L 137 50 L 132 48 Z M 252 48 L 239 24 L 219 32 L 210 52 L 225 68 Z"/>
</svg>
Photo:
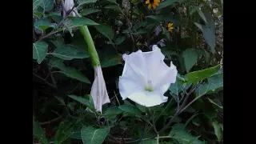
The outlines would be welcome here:
<svg viewBox="0 0 256 144">
<path fill-rule="evenodd" d="M 102 105 L 110 102 L 106 91 L 106 83 L 103 78 L 101 66 L 94 67 L 94 83 L 90 90 L 90 95 L 94 100 L 94 106 L 97 111 L 102 112 Z"/>
</svg>

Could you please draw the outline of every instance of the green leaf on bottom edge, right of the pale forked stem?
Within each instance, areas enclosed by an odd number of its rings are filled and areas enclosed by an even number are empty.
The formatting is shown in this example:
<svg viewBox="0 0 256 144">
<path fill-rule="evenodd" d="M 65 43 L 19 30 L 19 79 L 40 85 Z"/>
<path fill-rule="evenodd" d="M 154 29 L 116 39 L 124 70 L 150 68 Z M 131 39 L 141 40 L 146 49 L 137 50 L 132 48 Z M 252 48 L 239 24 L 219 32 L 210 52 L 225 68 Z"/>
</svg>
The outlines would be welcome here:
<svg viewBox="0 0 256 144">
<path fill-rule="evenodd" d="M 198 137 L 194 137 L 191 135 L 188 130 L 184 129 L 184 125 L 182 123 L 177 123 L 174 126 L 172 126 L 172 129 L 170 130 L 169 136 L 171 138 L 174 138 L 181 144 L 202 144 L 204 142 L 199 141 Z"/>
</svg>

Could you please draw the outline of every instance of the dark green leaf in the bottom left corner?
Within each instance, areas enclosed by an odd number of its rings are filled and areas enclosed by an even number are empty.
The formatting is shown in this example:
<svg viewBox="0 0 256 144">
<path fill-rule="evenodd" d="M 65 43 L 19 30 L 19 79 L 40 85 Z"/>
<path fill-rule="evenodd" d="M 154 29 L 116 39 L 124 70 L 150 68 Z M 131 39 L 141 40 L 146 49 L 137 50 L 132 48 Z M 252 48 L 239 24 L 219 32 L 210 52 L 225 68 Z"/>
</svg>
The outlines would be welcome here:
<svg viewBox="0 0 256 144">
<path fill-rule="evenodd" d="M 42 127 L 38 122 L 34 121 L 34 118 L 33 118 L 33 136 L 35 138 L 38 138 L 38 140 L 43 144 L 49 144 L 49 142 L 47 141 L 46 135 L 43 133 Z"/>
</svg>

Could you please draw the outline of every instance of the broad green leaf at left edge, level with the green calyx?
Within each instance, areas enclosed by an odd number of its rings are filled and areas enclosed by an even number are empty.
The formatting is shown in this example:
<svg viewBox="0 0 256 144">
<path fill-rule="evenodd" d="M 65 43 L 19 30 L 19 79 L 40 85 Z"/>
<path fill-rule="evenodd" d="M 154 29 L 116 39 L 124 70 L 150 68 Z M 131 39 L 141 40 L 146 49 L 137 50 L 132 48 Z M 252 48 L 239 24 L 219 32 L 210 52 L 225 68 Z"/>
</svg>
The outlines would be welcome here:
<svg viewBox="0 0 256 144">
<path fill-rule="evenodd" d="M 48 44 L 46 42 L 35 42 L 33 43 L 33 58 L 40 64 L 48 51 Z"/>
</svg>

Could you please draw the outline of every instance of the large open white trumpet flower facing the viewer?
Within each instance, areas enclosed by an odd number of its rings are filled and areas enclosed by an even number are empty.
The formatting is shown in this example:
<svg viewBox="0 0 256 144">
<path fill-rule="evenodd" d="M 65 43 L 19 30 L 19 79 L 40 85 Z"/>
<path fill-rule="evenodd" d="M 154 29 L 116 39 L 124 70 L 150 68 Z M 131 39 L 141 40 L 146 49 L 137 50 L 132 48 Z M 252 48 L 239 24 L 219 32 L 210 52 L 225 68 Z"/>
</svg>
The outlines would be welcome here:
<svg viewBox="0 0 256 144">
<path fill-rule="evenodd" d="M 152 50 L 123 55 L 125 66 L 118 82 L 123 100 L 130 98 L 142 106 L 157 106 L 167 101 L 163 94 L 176 81 L 176 66 L 172 62 L 170 67 L 166 66 L 158 46 L 154 45 Z"/>
</svg>

